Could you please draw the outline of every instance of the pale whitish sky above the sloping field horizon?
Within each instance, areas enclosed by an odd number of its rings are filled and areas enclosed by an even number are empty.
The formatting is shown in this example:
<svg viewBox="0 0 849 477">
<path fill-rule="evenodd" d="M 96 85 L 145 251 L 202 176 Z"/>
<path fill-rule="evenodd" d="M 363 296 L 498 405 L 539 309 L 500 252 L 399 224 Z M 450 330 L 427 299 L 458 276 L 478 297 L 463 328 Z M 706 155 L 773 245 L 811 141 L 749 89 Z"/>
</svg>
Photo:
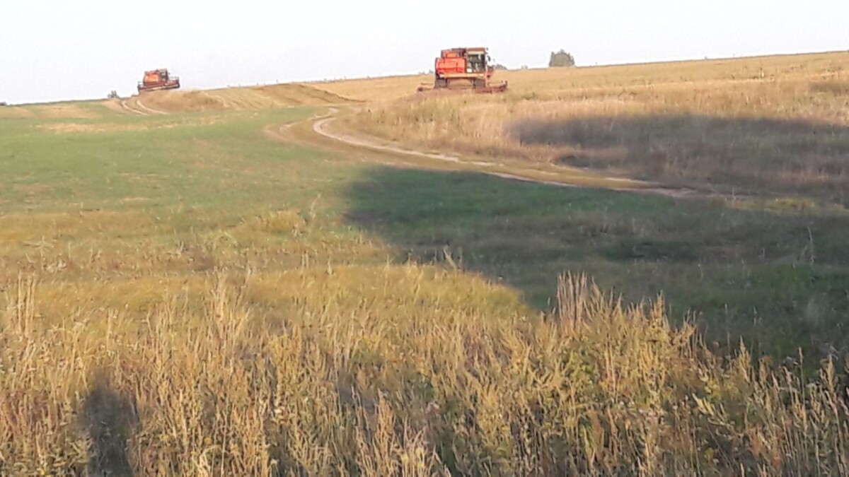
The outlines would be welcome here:
<svg viewBox="0 0 849 477">
<path fill-rule="evenodd" d="M 0 101 L 135 93 L 167 67 L 184 88 L 430 70 L 486 46 L 511 68 L 849 49 L 849 0 L 3 0 Z"/>
</svg>

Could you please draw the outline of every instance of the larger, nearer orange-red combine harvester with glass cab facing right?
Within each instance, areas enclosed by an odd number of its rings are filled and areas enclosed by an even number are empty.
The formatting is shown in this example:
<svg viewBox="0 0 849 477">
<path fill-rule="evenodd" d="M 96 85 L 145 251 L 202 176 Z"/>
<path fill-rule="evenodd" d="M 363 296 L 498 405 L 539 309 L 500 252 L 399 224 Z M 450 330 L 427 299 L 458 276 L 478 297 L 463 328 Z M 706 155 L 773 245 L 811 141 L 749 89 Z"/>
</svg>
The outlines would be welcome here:
<svg viewBox="0 0 849 477">
<path fill-rule="evenodd" d="M 434 84 L 422 85 L 419 93 L 434 90 L 471 90 L 475 93 L 503 93 L 507 81 L 492 82 L 495 68 L 486 48 L 451 48 L 436 59 Z"/>
</svg>

